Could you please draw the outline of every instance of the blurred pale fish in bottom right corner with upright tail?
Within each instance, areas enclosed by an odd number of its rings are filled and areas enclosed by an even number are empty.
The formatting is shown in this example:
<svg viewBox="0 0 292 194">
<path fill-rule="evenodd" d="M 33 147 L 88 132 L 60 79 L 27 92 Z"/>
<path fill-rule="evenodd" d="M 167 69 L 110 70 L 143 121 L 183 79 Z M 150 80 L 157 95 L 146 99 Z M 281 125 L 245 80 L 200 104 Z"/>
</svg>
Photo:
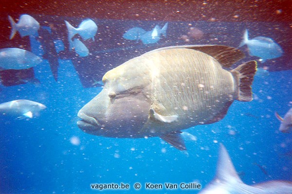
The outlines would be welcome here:
<svg viewBox="0 0 292 194">
<path fill-rule="evenodd" d="M 199 194 L 292 194 L 292 182 L 272 180 L 254 185 L 244 184 L 226 148 L 220 145 L 216 177 Z"/>
</svg>

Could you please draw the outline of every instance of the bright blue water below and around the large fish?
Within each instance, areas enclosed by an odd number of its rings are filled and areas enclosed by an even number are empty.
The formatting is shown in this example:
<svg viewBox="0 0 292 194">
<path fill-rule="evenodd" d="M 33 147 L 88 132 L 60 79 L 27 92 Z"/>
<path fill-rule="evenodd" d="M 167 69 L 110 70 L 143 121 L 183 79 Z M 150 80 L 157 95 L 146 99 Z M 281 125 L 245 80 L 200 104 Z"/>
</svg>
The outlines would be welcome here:
<svg viewBox="0 0 292 194">
<path fill-rule="evenodd" d="M 169 24 L 172 28 L 175 25 Z M 216 44 L 236 47 L 241 40 L 239 32 L 246 27 L 240 26 L 236 31 L 229 28 L 227 35 L 218 34 L 234 41 Z M 233 38 L 229 36 L 232 33 L 235 33 Z M 171 45 L 180 41 L 164 40 L 163 43 Z M 132 57 L 121 58 L 126 61 Z M 218 123 L 184 130 L 197 140 L 186 139 L 188 150 L 182 152 L 158 137 L 115 139 L 93 136 L 78 129 L 77 112 L 102 88 L 84 88 L 71 60 L 59 62 L 58 82 L 54 81 L 49 64 L 44 60 L 34 68 L 39 84 L 1 87 L 1 103 L 29 99 L 45 104 L 47 109 L 33 119 L 0 116 L 0 193 L 99 193 L 91 190 L 91 183 L 121 182 L 130 184 L 131 188 L 119 190 L 120 193 L 182 193 L 182 190 L 146 191 L 144 188 L 136 191 L 133 184 L 139 182 L 144 187 L 146 182 L 197 182 L 204 187 L 215 176 L 219 143 L 226 146 L 246 184 L 292 180 L 292 156 L 285 154 L 292 150 L 292 135 L 279 132 L 280 122 L 274 116 L 275 111 L 284 116 L 292 107 L 292 70 L 255 77 L 255 99 L 235 101 Z M 273 61 L 267 63 L 277 65 Z M 230 135 L 230 130 L 236 134 Z M 80 145 L 71 144 L 72 137 L 79 138 Z M 267 175 L 255 163 L 261 165 Z M 117 191 L 104 193 L 114 192 Z M 183 192 L 196 193 L 197 190 Z"/>
</svg>

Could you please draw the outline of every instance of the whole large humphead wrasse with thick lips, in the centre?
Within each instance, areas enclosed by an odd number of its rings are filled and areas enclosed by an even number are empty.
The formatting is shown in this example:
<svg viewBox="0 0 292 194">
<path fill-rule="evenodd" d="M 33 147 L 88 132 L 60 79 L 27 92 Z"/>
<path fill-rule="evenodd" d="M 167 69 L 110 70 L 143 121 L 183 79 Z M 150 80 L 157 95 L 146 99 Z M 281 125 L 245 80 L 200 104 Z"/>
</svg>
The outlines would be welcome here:
<svg viewBox="0 0 292 194">
<path fill-rule="evenodd" d="M 219 121 L 234 99 L 252 100 L 256 62 L 222 68 L 243 56 L 218 45 L 147 52 L 104 75 L 103 90 L 79 111 L 77 125 L 99 136 L 159 136 L 185 149 L 181 129 Z"/>
</svg>

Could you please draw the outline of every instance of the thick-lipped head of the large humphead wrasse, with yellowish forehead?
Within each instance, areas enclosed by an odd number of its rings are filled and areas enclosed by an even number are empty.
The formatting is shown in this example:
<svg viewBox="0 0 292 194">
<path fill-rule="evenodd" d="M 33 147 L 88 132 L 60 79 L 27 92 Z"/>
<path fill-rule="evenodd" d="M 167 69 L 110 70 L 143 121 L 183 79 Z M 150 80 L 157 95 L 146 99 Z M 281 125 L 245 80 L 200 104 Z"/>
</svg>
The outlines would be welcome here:
<svg viewBox="0 0 292 194">
<path fill-rule="evenodd" d="M 131 60 L 108 71 L 103 90 L 78 112 L 82 120 L 77 126 L 98 136 L 144 137 L 139 131 L 150 109 L 144 93 L 149 84 L 147 71 Z"/>
</svg>

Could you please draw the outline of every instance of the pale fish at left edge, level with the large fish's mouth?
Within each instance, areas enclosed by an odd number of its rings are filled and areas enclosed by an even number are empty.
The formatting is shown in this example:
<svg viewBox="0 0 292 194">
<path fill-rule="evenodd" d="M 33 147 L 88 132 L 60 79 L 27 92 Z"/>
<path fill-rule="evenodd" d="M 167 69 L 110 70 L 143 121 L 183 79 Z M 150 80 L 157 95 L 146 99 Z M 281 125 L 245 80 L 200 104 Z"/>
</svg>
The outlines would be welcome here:
<svg viewBox="0 0 292 194">
<path fill-rule="evenodd" d="M 17 118 L 33 118 L 47 108 L 45 105 L 30 100 L 13 100 L 0 104 L 0 115 L 13 115 Z"/>
</svg>

